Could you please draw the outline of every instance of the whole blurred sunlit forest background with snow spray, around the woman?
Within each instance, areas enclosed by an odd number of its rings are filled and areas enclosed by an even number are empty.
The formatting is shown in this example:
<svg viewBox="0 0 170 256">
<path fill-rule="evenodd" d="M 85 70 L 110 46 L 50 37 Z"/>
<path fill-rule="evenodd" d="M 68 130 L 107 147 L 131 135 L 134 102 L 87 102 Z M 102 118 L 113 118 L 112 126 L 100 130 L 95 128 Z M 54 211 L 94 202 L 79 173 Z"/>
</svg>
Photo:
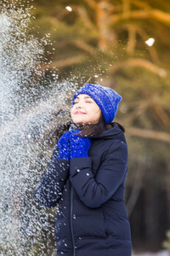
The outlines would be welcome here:
<svg viewBox="0 0 170 256">
<path fill-rule="evenodd" d="M 0 3 L 0 255 L 55 255 L 57 208 L 33 191 L 90 82 L 121 96 L 126 207 L 133 255 L 170 253 L 170 3 L 33 0 Z M 168 231 L 169 230 L 169 231 Z"/>
</svg>

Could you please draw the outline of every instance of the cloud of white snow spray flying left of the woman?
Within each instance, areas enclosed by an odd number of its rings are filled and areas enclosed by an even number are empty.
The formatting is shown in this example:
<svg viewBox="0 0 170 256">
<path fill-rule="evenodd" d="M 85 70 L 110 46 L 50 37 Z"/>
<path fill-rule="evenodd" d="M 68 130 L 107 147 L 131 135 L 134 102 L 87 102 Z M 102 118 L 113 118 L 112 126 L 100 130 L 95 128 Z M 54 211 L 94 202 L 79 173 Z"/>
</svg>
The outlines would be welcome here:
<svg viewBox="0 0 170 256">
<path fill-rule="evenodd" d="M 54 212 L 37 206 L 33 191 L 47 168 L 49 134 L 66 121 L 75 93 L 69 81 L 53 81 L 41 69 L 44 45 L 31 35 L 31 9 L 0 13 L 0 255 L 52 255 Z M 63 109 L 65 111 L 63 111 Z M 65 114 L 66 113 L 66 114 Z M 54 225 L 53 225 L 54 226 Z M 45 242 L 44 242 L 45 241 Z"/>
</svg>

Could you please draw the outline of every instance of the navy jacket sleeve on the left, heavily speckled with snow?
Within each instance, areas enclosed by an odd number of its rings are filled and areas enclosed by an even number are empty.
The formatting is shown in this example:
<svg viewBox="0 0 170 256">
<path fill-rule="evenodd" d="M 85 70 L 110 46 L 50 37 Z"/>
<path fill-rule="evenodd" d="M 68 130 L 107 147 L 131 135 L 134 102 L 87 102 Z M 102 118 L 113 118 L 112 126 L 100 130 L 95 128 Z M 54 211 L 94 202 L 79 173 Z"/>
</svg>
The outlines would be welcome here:
<svg viewBox="0 0 170 256">
<path fill-rule="evenodd" d="M 55 207 L 62 195 L 66 180 L 69 177 L 69 160 L 57 159 L 57 146 L 48 164 L 48 169 L 37 184 L 34 196 L 44 207 Z"/>
</svg>

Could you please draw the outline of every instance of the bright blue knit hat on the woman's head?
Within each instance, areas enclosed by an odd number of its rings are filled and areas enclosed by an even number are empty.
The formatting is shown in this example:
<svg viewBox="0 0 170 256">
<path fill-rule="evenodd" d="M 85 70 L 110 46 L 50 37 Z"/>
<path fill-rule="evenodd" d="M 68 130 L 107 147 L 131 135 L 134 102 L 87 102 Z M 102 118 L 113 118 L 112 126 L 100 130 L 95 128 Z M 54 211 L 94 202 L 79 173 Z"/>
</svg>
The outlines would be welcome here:
<svg viewBox="0 0 170 256">
<path fill-rule="evenodd" d="M 96 102 L 104 114 L 105 123 L 110 124 L 115 118 L 118 103 L 122 101 L 122 96 L 115 90 L 98 84 L 85 84 L 72 98 L 74 105 L 75 99 L 79 94 L 87 94 Z"/>
</svg>

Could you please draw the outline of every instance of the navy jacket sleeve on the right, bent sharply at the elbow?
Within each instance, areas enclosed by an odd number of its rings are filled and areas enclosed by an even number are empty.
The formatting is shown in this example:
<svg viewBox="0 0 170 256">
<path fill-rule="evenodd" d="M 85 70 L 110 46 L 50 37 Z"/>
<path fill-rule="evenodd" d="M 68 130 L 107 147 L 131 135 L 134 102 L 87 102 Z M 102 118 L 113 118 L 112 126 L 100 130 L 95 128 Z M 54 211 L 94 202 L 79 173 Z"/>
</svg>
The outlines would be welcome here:
<svg viewBox="0 0 170 256">
<path fill-rule="evenodd" d="M 95 177 L 90 157 L 72 159 L 70 172 L 71 183 L 80 200 L 87 207 L 100 207 L 125 180 L 127 145 L 118 140 L 111 144 Z"/>
</svg>

